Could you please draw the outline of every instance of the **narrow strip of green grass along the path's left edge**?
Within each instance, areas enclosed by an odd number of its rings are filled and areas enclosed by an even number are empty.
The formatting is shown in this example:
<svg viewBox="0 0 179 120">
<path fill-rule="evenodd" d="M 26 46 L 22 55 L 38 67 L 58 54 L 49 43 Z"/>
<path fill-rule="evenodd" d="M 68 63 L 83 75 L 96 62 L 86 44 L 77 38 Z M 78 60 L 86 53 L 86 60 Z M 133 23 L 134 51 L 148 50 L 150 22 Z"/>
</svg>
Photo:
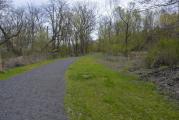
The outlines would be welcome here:
<svg viewBox="0 0 179 120">
<path fill-rule="evenodd" d="M 54 61 L 55 60 L 45 60 L 45 61 L 41 61 L 41 62 L 38 62 L 35 64 L 30 64 L 30 65 L 26 65 L 26 66 L 22 66 L 22 67 L 16 67 L 16 68 L 9 69 L 7 71 L 0 73 L 0 80 L 7 80 L 9 78 L 12 78 L 12 77 L 18 75 L 18 74 L 25 73 L 27 71 L 34 69 L 34 68 L 49 64 Z"/>
</svg>

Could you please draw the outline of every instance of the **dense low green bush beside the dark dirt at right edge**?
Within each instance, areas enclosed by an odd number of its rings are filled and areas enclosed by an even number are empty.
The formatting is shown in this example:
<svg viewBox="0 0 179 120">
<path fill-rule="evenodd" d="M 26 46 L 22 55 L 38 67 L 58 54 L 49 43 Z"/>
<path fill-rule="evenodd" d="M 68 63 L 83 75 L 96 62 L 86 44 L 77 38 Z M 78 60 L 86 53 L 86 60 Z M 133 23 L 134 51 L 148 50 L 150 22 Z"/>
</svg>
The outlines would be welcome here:
<svg viewBox="0 0 179 120">
<path fill-rule="evenodd" d="M 148 67 L 176 66 L 179 62 L 179 41 L 161 40 L 146 57 Z"/>
</svg>

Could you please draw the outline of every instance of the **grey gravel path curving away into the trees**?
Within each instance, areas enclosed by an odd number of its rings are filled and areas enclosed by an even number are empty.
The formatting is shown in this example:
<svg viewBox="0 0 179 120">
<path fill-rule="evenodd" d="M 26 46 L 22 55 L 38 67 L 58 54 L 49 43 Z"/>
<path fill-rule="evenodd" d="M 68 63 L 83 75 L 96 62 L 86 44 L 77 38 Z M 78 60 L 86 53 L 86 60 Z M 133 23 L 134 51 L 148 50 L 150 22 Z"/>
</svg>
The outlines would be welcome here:
<svg viewBox="0 0 179 120">
<path fill-rule="evenodd" d="M 0 120 L 67 120 L 65 80 L 69 58 L 0 81 Z"/>
</svg>

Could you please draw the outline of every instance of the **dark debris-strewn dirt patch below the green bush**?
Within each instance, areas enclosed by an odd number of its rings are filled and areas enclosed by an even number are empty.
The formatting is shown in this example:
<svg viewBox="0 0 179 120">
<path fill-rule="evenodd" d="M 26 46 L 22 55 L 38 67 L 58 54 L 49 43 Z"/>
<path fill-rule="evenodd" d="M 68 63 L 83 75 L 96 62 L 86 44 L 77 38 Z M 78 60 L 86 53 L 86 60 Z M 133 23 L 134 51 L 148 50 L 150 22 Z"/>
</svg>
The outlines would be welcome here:
<svg viewBox="0 0 179 120">
<path fill-rule="evenodd" d="M 156 68 L 133 71 L 142 80 L 150 80 L 158 85 L 160 91 L 179 100 L 179 67 Z"/>
</svg>

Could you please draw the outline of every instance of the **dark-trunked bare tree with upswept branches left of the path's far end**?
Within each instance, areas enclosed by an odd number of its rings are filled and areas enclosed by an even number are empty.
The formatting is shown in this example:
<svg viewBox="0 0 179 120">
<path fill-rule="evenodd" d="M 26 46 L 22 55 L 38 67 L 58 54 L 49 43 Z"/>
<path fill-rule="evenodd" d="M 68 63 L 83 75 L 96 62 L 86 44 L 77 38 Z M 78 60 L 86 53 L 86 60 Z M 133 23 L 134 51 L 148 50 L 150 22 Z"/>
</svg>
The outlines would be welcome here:
<svg viewBox="0 0 179 120">
<path fill-rule="evenodd" d="M 45 8 L 48 16 L 48 22 L 50 23 L 52 29 L 52 38 L 49 44 L 53 44 L 53 51 L 58 50 L 60 46 L 62 24 L 64 21 L 64 13 L 66 8 L 67 4 L 62 0 L 51 0 L 51 3 Z"/>
</svg>

